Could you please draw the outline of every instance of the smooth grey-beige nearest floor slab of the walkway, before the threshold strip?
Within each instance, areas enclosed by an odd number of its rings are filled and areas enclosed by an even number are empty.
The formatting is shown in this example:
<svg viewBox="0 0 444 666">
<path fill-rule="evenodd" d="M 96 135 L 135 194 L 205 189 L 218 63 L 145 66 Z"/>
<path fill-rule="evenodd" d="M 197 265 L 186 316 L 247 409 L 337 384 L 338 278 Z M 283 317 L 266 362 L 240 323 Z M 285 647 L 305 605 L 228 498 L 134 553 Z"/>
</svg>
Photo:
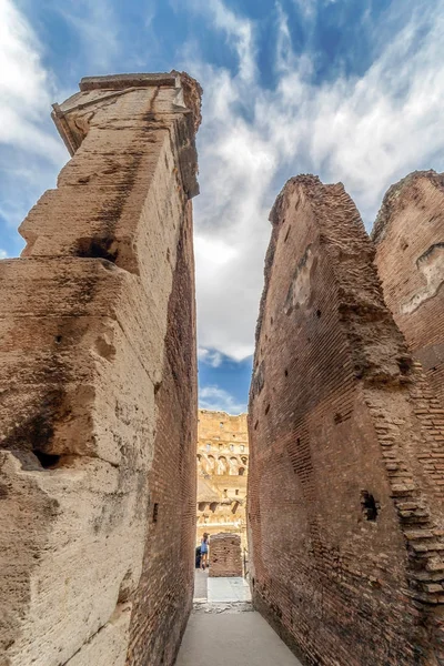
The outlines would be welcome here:
<svg viewBox="0 0 444 666">
<path fill-rule="evenodd" d="M 192 614 L 175 666 L 301 666 L 256 613 Z"/>
</svg>

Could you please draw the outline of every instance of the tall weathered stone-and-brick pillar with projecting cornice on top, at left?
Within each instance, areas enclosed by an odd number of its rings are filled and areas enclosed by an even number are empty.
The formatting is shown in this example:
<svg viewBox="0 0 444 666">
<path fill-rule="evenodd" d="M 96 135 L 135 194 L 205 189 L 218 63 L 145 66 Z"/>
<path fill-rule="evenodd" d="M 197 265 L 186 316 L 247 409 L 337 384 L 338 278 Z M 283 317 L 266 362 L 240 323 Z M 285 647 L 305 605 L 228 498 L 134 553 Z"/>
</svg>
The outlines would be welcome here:
<svg viewBox="0 0 444 666">
<path fill-rule="evenodd" d="M 171 665 L 192 604 L 199 84 L 82 79 L 0 262 L 0 664 Z"/>
</svg>

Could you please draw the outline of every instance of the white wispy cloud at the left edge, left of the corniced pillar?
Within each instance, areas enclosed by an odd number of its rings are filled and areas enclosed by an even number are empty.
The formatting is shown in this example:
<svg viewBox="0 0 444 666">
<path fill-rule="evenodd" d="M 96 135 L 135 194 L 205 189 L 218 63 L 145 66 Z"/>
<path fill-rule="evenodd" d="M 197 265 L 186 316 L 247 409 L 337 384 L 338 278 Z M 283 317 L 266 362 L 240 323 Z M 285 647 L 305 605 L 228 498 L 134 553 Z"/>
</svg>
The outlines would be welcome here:
<svg viewBox="0 0 444 666">
<path fill-rule="evenodd" d="M 42 46 L 12 0 L 0 0 L 0 216 L 1 244 L 22 246 L 16 229 L 67 161 L 50 120 L 56 83 Z"/>
</svg>

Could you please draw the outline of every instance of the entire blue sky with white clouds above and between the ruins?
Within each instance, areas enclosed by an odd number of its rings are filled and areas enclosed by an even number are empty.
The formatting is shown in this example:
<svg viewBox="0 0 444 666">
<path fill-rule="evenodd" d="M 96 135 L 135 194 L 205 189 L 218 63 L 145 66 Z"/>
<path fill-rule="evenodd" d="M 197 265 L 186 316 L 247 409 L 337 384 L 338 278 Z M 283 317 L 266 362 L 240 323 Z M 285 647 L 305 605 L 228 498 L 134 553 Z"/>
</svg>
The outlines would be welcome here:
<svg viewBox="0 0 444 666">
<path fill-rule="evenodd" d="M 0 256 L 68 159 L 52 102 L 83 75 L 189 71 L 200 400 L 245 410 L 276 194 L 342 181 L 370 229 L 391 183 L 444 171 L 443 34 L 444 0 L 0 0 Z"/>
</svg>

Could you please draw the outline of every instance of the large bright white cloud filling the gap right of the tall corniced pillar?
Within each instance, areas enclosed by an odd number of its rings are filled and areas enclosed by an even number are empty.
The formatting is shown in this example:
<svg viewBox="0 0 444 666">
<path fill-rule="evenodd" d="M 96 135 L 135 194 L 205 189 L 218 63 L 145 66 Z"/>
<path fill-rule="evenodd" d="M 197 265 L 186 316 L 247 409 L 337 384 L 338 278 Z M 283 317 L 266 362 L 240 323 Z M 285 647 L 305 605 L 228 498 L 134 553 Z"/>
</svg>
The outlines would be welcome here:
<svg viewBox="0 0 444 666">
<path fill-rule="evenodd" d="M 301 4 L 307 20 L 314 4 Z M 204 89 L 194 201 L 199 340 L 241 360 L 254 347 L 269 210 L 289 176 L 342 181 L 369 228 L 391 183 L 415 169 L 444 170 L 444 0 L 396 6 L 384 24 L 397 31 L 383 43 L 379 32 L 371 36 L 379 48 L 372 67 L 361 78 L 322 84 L 312 77 L 316 54 L 292 51 L 278 4 L 274 89 L 258 75 L 254 24 L 233 20 L 221 0 L 205 6 L 212 29 L 236 44 L 240 64 L 232 73 L 188 52 L 186 67 Z"/>
</svg>

